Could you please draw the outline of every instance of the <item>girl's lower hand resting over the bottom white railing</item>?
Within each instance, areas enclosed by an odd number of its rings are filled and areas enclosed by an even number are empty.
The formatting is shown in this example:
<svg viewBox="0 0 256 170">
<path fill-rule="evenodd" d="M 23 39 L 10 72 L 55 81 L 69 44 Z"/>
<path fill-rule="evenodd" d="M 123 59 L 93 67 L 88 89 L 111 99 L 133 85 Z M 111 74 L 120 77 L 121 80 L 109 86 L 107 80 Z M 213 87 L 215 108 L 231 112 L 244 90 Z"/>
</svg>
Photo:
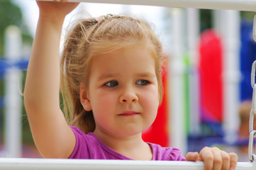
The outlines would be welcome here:
<svg viewBox="0 0 256 170">
<path fill-rule="evenodd" d="M 186 160 L 193 162 L 203 161 L 205 170 L 235 170 L 238 155 L 235 153 L 228 154 L 217 147 L 204 147 L 200 153 L 188 152 Z"/>
</svg>

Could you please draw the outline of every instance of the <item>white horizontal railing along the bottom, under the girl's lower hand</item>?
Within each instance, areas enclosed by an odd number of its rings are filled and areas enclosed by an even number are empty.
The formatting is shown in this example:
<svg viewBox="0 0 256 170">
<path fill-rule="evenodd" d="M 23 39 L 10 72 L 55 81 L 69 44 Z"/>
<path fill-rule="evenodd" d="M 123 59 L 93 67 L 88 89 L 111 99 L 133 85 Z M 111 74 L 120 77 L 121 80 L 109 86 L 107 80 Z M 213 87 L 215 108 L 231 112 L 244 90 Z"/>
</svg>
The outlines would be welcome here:
<svg viewBox="0 0 256 170">
<path fill-rule="evenodd" d="M 124 160 L 95 160 L 95 159 L 26 159 L 1 158 L 1 170 L 200 170 L 204 169 L 203 162 L 167 162 L 167 161 L 124 161 Z M 255 170 L 256 163 L 238 162 L 236 170 Z"/>
</svg>

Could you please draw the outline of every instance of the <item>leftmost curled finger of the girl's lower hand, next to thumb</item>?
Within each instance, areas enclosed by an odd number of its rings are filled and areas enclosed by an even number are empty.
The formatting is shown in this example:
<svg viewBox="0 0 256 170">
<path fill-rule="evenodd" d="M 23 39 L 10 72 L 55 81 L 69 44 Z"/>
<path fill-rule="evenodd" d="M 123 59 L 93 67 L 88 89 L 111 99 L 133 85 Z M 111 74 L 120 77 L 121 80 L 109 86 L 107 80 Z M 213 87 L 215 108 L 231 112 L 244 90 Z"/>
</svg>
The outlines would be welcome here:
<svg viewBox="0 0 256 170">
<path fill-rule="evenodd" d="M 209 147 L 204 147 L 199 153 L 202 161 L 204 161 L 204 170 L 213 169 L 213 153 Z"/>
</svg>

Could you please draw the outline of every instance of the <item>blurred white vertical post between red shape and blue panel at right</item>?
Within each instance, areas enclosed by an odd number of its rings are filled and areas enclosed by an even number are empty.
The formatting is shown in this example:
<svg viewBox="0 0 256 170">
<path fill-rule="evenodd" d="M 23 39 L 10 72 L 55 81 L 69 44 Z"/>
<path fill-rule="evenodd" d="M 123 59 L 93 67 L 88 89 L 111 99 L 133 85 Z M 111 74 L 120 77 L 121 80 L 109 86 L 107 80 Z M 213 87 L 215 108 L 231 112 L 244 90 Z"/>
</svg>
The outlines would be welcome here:
<svg viewBox="0 0 256 170">
<path fill-rule="evenodd" d="M 215 25 L 223 42 L 223 122 L 225 140 L 237 140 L 239 106 L 239 11 L 215 11 Z"/>
</svg>

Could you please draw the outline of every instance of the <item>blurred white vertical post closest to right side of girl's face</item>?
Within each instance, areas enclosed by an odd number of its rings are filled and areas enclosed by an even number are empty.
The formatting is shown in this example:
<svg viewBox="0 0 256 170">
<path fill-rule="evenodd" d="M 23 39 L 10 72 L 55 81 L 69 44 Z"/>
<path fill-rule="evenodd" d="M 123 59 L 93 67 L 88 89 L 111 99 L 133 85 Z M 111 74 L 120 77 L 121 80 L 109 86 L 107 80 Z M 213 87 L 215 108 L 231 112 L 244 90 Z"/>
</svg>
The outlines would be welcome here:
<svg viewBox="0 0 256 170">
<path fill-rule="evenodd" d="M 186 125 L 184 120 L 184 9 L 172 8 L 172 52 L 170 70 L 170 95 L 169 99 L 169 127 L 171 130 L 170 142 L 172 147 L 182 149 L 182 154 L 187 152 Z"/>
</svg>

